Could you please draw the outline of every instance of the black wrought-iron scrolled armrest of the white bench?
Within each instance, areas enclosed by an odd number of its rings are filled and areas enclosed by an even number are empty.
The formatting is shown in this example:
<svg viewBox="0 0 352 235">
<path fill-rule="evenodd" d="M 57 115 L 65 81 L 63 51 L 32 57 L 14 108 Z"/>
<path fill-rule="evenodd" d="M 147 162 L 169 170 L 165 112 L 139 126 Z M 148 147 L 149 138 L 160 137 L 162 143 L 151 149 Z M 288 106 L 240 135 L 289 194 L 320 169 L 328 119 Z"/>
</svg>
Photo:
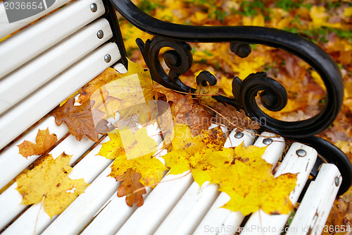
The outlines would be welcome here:
<svg viewBox="0 0 352 235">
<path fill-rule="evenodd" d="M 279 111 L 287 104 L 286 90 L 265 73 L 253 73 L 243 81 L 234 78 L 232 82 L 234 99 L 220 95 L 214 98 L 220 102 L 232 104 L 237 109 L 244 109 L 253 121 L 258 121 L 268 131 L 288 138 L 299 138 L 306 143 L 311 142 L 314 147 L 318 148 L 321 155 L 329 152 L 334 156 L 330 162 L 337 162 L 343 175 L 344 186 L 342 188 L 346 190 L 351 186 L 352 166 L 346 155 L 334 145 L 325 145 L 313 136 L 332 124 L 339 114 L 344 97 L 339 68 L 324 50 L 313 42 L 284 30 L 255 26 L 177 25 L 147 15 L 130 0 L 111 0 L 111 2 L 132 25 L 155 36 L 153 40 L 147 40 L 145 44 L 142 40 L 137 40 L 137 44 L 149 66 L 153 80 L 173 90 L 194 92 L 194 88 L 189 88 L 180 80 L 180 75 L 186 73 L 192 63 L 191 47 L 187 42 L 230 42 L 230 50 L 241 58 L 251 53 L 250 44 L 263 44 L 283 49 L 306 61 L 318 72 L 327 91 L 325 107 L 310 119 L 280 121 L 268 116 L 258 107 L 255 99 L 258 92 L 260 92 L 260 101 L 263 106 L 270 111 Z M 163 47 L 172 48 L 164 56 L 165 63 L 170 68 L 169 74 L 165 73 L 159 60 L 159 52 Z M 197 83 L 215 85 L 216 79 L 210 73 L 202 73 L 197 78 Z"/>
</svg>

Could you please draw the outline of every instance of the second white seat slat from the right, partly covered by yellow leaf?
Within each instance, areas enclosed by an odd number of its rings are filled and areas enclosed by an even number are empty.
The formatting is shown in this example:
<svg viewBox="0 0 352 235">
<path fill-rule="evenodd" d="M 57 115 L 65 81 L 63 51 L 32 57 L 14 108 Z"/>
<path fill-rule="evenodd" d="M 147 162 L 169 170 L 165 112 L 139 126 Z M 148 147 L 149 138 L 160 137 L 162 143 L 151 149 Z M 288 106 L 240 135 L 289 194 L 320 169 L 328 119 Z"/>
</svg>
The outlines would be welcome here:
<svg viewBox="0 0 352 235">
<path fill-rule="evenodd" d="M 298 157 L 296 154 L 297 150 L 305 150 L 305 157 Z M 284 160 L 279 165 L 275 177 L 285 174 L 292 173 L 297 175 L 297 185 L 294 191 L 290 194 L 291 203 L 296 204 L 299 195 L 303 191 L 310 171 L 312 171 L 318 153 L 312 147 L 303 145 L 301 143 L 293 143 L 284 157 Z M 241 235 L 246 234 L 265 234 L 279 235 L 284 229 L 284 225 L 289 219 L 289 215 L 268 215 L 263 210 L 254 212 L 249 220 L 246 222 Z M 269 229 L 270 228 L 270 229 Z"/>
</svg>

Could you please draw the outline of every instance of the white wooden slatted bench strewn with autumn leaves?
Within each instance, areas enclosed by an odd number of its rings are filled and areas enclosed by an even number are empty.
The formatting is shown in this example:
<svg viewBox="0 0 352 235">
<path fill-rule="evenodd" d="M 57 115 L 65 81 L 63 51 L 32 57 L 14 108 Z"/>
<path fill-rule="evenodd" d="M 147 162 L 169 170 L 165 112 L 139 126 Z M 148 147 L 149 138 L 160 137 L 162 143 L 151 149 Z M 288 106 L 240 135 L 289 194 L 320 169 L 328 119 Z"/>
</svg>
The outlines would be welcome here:
<svg viewBox="0 0 352 235">
<path fill-rule="evenodd" d="M 66 3 L 67 6 L 60 8 Z M 101 145 L 95 145 L 85 136 L 77 141 L 65 124 L 56 126 L 54 117 L 46 115 L 109 66 L 125 71 L 121 64 L 125 63 L 122 58 L 125 49 L 106 20 L 110 17 L 106 9 L 112 11 L 108 7 L 111 5 L 101 0 L 61 0 L 42 13 L 9 24 L 3 11 L 4 2 L 0 3 L 0 37 L 60 8 L 0 42 L 0 188 L 7 187 L 0 194 L 0 231 L 3 234 L 234 234 L 239 231 L 281 234 L 289 215 L 267 215 L 261 211 L 245 219 L 241 212 L 220 208 L 229 197 L 212 184 L 199 188 L 191 174 L 174 181 L 168 180 L 180 176 L 167 174 L 163 179 L 167 182 L 153 190 L 147 189 L 142 207 L 127 206 L 125 197 L 116 195 L 120 183 L 108 177 L 112 160 L 97 155 Z M 73 155 L 70 164 L 84 156 L 73 167 L 70 178 L 92 183 L 61 215 L 52 219 L 40 203 L 21 205 L 22 196 L 12 181 L 41 157 L 33 155 L 26 159 L 19 154 L 18 145 L 24 140 L 35 143 L 37 131 L 46 128 L 59 140 L 49 153 L 54 157 L 62 152 Z M 150 126 L 149 135 L 160 143 L 161 138 L 155 133 L 158 130 Z M 235 135 L 232 131 L 231 141 L 225 147 L 235 147 L 243 141 L 247 146 L 268 145 L 263 159 L 276 164 L 284 151 L 284 138 L 255 137 L 249 132 Z M 106 141 L 108 137 L 101 143 Z M 297 186 L 290 195 L 292 203 L 301 195 L 317 157 L 312 147 L 300 143 L 291 144 L 286 152 L 276 175 L 298 173 Z M 322 164 L 287 234 L 320 234 L 341 181 L 334 164 Z"/>
</svg>

